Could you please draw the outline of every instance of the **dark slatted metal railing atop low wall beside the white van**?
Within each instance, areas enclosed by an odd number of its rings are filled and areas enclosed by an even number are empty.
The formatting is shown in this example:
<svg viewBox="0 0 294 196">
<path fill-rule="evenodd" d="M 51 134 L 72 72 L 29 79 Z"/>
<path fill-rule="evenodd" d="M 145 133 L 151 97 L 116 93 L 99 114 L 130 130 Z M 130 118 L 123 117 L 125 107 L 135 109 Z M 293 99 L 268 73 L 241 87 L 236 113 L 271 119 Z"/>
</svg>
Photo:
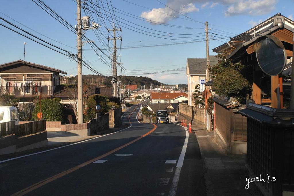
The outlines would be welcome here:
<svg viewBox="0 0 294 196">
<path fill-rule="evenodd" d="M 15 125 L 14 121 L 0 123 L 0 137 L 15 134 L 16 137 L 22 137 L 46 131 L 46 120 L 28 122 Z"/>
</svg>

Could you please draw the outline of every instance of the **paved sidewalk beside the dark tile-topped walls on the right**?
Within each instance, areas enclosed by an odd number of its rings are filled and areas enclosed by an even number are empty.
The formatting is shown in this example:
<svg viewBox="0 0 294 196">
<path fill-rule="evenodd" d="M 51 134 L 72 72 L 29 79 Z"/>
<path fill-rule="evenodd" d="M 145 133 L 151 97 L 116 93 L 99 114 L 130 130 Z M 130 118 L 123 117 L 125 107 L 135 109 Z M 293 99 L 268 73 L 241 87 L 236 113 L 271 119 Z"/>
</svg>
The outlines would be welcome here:
<svg viewBox="0 0 294 196">
<path fill-rule="evenodd" d="M 256 195 L 262 196 L 258 187 L 250 183 L 245 189 L 249 172 L 245 167 L 245 155 L 232 155 L 222 151 L 213 139 L 213 131 L 192 126 L 197 136 L 204 166 L 207 195 Z"/>
</svg>

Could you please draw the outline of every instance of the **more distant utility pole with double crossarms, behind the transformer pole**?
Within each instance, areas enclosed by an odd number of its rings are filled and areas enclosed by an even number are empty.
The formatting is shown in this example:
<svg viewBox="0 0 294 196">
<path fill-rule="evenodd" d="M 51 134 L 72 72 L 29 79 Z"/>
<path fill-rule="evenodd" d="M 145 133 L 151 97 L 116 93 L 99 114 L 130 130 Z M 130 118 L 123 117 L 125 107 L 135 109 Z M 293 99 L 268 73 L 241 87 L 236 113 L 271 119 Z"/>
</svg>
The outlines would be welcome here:
<svg viewBox="0 0 294 196">
<path fill-rule="evenodd" d="M 116 37 L 116 31 L 121 31 L 121 28 L 118 29 L 114 26 L 113 24 L 113 29 L 107 29 L 108 32 L 109 31 L 113 31 L 113 39 L 110 38 L 110 36 L 107 38 L 108 41 L 109 40 L 113 40 L 113 63 L 112 63 L 112 89 L 113 89 L 113 96 L 117 97 L 117 67 L 116 67 L 116 40 L 120 39 L 121 40 L 121 36 L 120 37 Z"/>
</svg>

